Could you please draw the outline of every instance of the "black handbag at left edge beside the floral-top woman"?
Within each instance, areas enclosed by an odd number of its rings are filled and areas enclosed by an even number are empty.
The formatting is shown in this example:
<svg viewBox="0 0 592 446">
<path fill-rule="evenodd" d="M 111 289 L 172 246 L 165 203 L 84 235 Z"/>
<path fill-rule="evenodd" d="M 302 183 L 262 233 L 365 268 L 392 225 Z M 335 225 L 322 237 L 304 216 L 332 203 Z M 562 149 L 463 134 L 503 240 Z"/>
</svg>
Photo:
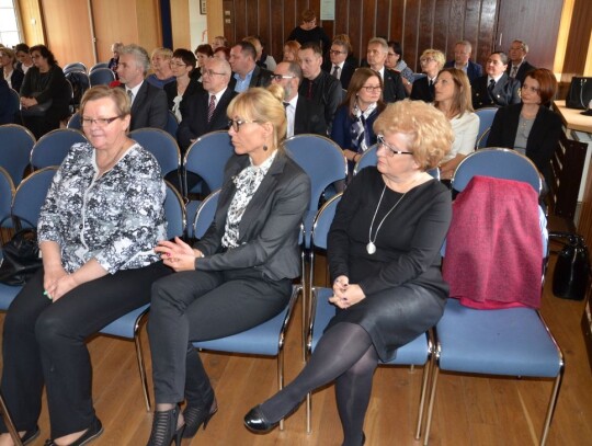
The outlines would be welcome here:
<svg viewBox="0 0 592 446">
<path fill-rule="evenodd" d="M 24 285 L 43 265 L 35 229 L 18 231 L 2 247 L 0 283 Z"/>
</svg>

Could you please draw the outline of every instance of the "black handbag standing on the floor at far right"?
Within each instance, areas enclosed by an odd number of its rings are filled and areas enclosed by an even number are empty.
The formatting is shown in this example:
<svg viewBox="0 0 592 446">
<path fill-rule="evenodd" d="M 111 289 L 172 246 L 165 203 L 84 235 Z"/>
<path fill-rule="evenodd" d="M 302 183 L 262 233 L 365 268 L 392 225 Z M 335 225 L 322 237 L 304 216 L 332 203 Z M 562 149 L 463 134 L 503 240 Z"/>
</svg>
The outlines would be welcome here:
<svg viewBox="0 0 592 446">
<path fill-rule="evenodd" d="M 588 247 L 577 233 L 550 232 L 551 239 L 565 239 L 553 273 L 553 294 L 563 299 L 583 300 L 588 288 L 590 262 Z"/>
</svg>

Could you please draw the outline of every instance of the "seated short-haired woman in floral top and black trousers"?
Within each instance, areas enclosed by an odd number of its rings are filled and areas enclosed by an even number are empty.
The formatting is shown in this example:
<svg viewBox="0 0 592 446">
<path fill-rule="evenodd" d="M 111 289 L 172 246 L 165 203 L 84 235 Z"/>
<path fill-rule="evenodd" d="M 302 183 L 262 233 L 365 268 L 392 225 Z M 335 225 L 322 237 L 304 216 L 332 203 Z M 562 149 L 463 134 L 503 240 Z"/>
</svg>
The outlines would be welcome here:
<svg viewBox="0 0 592 446">
<path fill-rule="evenodd" d="M 54 176 L 37 226 L 43 267 L 4 319 L 1 388 L 24 444 L 39 435 L 44 387 L 45 445 L 102 434 L 87 341 L 148 304 L 152 282 L 170 273 L 153 251 L 167 238 L 164 183 L 156 159 L 126 136 L 127 95 L 98 85 L 80 110 L 89 141 L 73 145 Z M 5 442 L 3 421 L 0 432 Z"/>
</svg>

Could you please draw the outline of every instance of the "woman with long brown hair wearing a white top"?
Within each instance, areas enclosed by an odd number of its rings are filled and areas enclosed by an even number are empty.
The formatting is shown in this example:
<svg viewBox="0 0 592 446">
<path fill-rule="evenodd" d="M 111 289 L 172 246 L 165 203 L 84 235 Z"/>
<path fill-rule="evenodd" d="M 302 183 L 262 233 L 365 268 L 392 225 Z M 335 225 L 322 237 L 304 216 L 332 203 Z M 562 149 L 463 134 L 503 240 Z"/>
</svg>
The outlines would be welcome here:
<svg viewBox="0 0 592 446">
<path fill-rule="evenodd" d="M 434 89 L 434 105 L 446 115 L 454 131 L 452 150 L 440 164 L 441 178 L 451 180 L 463 158 L 475 150 L 479 116 L 473 111 L 470 83 L 465 71 L 444 68 L 437 75 Z"/>
</svg>

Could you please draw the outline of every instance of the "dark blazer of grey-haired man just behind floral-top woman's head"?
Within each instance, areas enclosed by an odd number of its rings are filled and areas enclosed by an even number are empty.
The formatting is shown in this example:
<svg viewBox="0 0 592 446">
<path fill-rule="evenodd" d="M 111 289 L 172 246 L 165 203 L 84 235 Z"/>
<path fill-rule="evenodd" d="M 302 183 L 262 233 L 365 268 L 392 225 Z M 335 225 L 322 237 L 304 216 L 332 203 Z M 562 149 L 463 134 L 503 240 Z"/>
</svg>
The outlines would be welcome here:
<svg viewBox="0 0 592 446">
<path fill-rule="evenodd" d="M 129 130 L 144 127 L 164 129 L 168 117 L 167 93 L 164 90 L 144 81 L 132 105 Z"/>
</svg>

